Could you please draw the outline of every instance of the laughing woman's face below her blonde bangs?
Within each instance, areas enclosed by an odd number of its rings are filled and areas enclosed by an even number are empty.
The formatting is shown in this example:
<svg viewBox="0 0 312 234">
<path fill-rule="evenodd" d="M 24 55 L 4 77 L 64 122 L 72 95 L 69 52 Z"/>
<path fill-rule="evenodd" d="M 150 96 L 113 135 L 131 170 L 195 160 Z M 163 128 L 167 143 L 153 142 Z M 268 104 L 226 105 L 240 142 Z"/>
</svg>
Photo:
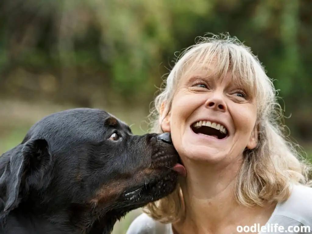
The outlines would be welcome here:
<svg viewBox="0 0 312 234">
<path fill-rule="evenodd" d="M 210 69 L 181 78 L 161 126 L 182 159 L 231 163 L 257 145 L 256 105 L 230 73 L 215 80 Z"/>
</svg>

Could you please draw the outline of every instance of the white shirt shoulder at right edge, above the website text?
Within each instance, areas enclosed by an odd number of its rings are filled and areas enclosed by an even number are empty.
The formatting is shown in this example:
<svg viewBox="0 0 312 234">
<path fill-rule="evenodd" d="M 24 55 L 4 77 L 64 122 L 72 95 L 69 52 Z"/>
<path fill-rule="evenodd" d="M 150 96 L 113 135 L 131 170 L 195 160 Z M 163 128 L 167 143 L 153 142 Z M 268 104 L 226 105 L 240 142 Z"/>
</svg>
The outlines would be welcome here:
<svg viewBox="0 0 312 234">
<path fill-rule="evenodd" d="M 278 205 L 275 215 L 289 217 L 312 227 L 312 188 L 293 186 L 290 197 Z"/>
</svg>

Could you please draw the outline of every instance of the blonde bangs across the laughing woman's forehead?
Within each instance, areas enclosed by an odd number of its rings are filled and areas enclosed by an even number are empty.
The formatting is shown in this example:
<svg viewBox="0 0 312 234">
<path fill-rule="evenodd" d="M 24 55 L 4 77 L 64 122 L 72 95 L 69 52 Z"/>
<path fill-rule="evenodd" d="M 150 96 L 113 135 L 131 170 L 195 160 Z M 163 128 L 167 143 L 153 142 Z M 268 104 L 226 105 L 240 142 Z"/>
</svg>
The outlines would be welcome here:
<svg viewBox="0 0 312 234">
<path fill-rule="evenodd" d="M 225 42 L 198 44 L 184 51 L 179 63 L 180 69 L 175 72 L 175 77 L 200 74 L 222 81 L 227 73 L 231 73 L 232 83 L 244 90 L 248 98 L 254 100 L 264 96 L 262 89 L 257 87 L 260 79 L 255 71 L 257 61 L 240 46 Z M 212 63 L 214 68 L 209 70 Z"/>
</svg>

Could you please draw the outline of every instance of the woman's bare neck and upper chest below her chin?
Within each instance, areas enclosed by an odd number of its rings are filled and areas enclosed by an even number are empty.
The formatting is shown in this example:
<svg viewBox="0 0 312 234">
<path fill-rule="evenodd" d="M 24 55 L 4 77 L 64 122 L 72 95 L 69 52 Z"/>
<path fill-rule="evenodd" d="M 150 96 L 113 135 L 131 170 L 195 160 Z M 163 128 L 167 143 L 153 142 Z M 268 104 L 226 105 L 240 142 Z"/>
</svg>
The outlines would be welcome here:
<svg viewBox="0 0 312 234">
<path fill-rule="evenodd" d="M 207 165 L 187 168 L 181 182 L 185 217 L 173 225 L 177 233 L 237 233 L 238 225 L 265 225 L 274 207 L 249 208 L 236 202 L 237 168 L 240 165 L 222 170 Z"/>
</svg>

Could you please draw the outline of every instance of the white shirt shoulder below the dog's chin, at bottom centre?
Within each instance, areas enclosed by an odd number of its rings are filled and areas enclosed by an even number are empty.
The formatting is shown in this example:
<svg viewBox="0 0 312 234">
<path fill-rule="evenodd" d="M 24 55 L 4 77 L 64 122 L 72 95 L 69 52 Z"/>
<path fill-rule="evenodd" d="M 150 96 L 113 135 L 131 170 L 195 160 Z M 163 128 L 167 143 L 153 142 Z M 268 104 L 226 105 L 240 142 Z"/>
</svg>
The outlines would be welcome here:
<svg viewBox="0 0 312 234">
<path fill-rule="evenodd" d="M 126 234 L 172 234 L 171 225 L 160 223 L 142 213 L 131 222 Z"/>
</svg>

